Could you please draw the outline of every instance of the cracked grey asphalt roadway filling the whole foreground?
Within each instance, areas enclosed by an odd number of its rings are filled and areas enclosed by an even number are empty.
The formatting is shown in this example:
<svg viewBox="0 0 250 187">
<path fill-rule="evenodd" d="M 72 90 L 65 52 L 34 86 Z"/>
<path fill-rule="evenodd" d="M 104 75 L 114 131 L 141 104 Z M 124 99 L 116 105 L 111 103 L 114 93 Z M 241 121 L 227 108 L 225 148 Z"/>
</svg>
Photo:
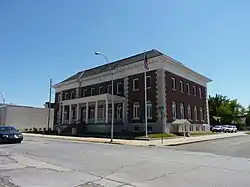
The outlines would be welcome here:
<svg viewBox="0 0 250 187">
<path fill-rule="evenodd" d="M 163 148 L 25 137 L 22 144 L 0 145 L 0 184 L 249 187 L 249 137 Z"/>
</svg>

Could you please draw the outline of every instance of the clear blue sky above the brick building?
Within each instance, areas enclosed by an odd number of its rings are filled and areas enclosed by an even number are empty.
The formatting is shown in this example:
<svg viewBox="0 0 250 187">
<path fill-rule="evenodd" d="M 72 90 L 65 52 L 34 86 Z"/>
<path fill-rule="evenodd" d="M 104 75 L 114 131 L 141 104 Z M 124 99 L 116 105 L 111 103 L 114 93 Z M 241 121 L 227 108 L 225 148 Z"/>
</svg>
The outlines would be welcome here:
<svg viewBox="0 0 250 187">
<path fill-rule="evenodd" d="M 42 106 L 49 78 L 158 49 L 214 81 L 210 94 L 250 104 L 247 0 L 0 1 L 0 91 Z"/>
</svg>

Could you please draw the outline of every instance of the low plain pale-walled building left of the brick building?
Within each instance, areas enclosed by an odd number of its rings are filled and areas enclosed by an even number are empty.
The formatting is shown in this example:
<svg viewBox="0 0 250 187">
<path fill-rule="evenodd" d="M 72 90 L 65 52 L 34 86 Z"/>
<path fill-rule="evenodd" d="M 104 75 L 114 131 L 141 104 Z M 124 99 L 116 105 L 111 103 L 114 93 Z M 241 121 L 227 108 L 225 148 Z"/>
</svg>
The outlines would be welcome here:
<svg viewBox="0 0 250 187">
<path fill-rule="evenodd" d="M 12 104 L 0 105 L 0 124 L 11 125 L 17 129 L 43 129 L 48 128 L 48 108 L 19 106 Z M 53 128 L 54 109 L 50 111 L 49 127 Z"/>
</svg>

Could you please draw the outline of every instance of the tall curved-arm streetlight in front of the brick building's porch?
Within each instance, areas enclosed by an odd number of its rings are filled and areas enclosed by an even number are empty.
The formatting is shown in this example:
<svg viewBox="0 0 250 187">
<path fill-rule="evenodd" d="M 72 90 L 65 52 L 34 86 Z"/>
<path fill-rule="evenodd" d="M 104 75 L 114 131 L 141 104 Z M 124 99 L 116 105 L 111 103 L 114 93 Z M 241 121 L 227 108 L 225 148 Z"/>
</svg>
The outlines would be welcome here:
<svg viewBox="0 0 250 187">
<path fill-rule="evenodd" d="M 109 63 L 108 58 L 104 54 L 102 54 L 100 52 L 95 52 L 95 55 L 100 55 L 100 56 L 103 56 L 105 58 L 105 60 L 107 61 L 108 66 L 109 66 L 109 70 L 112 73 L 112 78 L 111 78 L 111 100 L 112 100 L 111 105 L 112 105 L 112 111 L 111 111 L 111 135 L 110 135 L 111 140 L 110 140 L 110 142 L 113 142 L 113 135 L 114 135 L 114 84 L 113 84 L 114 83 L 114 71 L 113 71 L 113 69 L 112 69 L 112 67 L 111 67 L 111 65 Z"/>
</svg>

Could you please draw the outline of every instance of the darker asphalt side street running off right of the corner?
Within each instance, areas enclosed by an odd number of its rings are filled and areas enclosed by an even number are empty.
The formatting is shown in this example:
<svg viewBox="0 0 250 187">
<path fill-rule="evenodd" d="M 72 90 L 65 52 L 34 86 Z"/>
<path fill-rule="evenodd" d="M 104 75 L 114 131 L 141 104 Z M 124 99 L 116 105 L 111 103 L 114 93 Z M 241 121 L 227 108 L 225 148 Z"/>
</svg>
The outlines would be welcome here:
<svg viewBox="0 0 250 187">
<path fill-rule="evenodd" d="M 174 150 L 250 158 L 250 135 L 171 147 Z"/>
</svg>

